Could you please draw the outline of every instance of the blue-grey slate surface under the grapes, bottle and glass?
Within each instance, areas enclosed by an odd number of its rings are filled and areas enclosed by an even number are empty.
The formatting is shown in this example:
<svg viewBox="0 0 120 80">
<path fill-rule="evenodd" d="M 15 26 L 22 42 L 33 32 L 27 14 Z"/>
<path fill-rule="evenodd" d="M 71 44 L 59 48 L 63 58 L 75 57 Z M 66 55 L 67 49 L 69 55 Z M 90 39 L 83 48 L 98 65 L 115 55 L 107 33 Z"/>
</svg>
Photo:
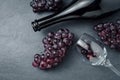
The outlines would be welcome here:
<svg viewBox="0 0 120 80">
<path fill-rule="evenodd" d="M 93 67 L 82 61 L 74 45 L 64 62 L 55 69 L 42 71 L 31 66 L 35 53 L 43 51 L 42 38 L 49 31 L 68 28 L 75 33 L 75 40 L 86 32 L 98 38 L 93 25 L 120 19 L 120 12 L 99 20 L 72 20 L 34 32 L 31 21 L 50 13 L 34 14 L 31 0 L 0 0 L 0 80 L 119 80 L 105 67 Z M 71 0 L 64 0 L 69 3 Z M 107 4 L 106 4 L 107 5 Z M 108 58 L 120 70 L 120 51 L 107 47 Z"/>
</svg>

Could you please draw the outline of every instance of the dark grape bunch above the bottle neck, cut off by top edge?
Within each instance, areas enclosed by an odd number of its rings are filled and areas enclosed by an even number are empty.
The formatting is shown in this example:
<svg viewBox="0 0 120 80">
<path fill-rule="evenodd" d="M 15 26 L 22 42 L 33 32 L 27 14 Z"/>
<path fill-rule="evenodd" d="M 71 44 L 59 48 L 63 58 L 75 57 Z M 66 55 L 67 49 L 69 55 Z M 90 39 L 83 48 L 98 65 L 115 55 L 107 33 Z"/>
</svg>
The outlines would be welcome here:
<svg viewBox="0 0 120 80">
<path fill-rule="evenodd" d="M 62 7 L 62 0 L 32 0 L 30 6 L 33 12 L 56 11 Z"/>
</svg>

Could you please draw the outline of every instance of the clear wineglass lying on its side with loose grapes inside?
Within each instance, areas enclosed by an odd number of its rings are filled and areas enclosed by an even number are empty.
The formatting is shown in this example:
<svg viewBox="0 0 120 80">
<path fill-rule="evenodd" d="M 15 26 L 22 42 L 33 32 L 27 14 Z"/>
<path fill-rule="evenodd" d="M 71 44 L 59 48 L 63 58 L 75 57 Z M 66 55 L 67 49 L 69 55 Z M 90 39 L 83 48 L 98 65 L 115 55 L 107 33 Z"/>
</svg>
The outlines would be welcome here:
<svg viewBox="0 0 120 80">
<path fill-rule="evenodd" d="M 93 66 L 105 66 L 110 68 L 118 76 L 120 72 L 111 64 L 107 58 L 107 50 L 99 40 L 93 36 L 84 33 L 77 41 L 77 50 L 83 55 L 84 60 Z"/>
</svg>

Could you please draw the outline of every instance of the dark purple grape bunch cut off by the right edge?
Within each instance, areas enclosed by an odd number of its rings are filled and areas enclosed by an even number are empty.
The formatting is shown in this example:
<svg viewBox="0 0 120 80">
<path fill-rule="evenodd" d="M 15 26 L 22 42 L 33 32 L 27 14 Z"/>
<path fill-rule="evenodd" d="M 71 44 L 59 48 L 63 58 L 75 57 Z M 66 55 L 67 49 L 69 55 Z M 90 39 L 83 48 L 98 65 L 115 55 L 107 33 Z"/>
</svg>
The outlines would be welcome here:
<svg viewBox="0 0 120 80">
<path fill-rule="evenodd" d="M 110 48 L 120 50 L 120 20 L 115 23 L 108 22 L 94 27 L 101 40 Z"/>
</svg>

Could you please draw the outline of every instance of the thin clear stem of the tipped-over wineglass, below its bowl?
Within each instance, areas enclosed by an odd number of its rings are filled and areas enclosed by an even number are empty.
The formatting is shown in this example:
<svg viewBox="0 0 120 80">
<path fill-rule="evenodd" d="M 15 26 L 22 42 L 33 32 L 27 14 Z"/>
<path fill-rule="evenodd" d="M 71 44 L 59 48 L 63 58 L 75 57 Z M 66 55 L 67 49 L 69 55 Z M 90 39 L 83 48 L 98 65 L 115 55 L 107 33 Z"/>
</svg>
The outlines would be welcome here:
<svg viewBox="0 0 120 80">
<path fill-rule="evenodd" d="M 111 69 L 114 73 L 116 73 L 118 76 L 120 76 L 120 71 L 118 71 L 110 62 L 109 59 L 106 59 L 104 64 L 105 67 L 108 67 L 109 69 Z"/>
</svg>

